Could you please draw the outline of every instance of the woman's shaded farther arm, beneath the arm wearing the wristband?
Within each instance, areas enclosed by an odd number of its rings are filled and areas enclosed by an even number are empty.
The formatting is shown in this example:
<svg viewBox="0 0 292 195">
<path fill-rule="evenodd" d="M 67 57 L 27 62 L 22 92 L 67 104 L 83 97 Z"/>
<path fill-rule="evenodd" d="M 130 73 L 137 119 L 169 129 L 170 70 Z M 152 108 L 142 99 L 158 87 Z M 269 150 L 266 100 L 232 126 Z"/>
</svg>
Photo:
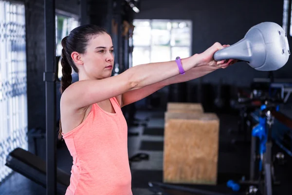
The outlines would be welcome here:
<svg viewBox="0 0 292 195">
<path fill-rule="evenodd" d="M 177 75 L 172 78 L 165 79 L 161 82 L 148 85 L 141 89 L 128 91 L 121 95 L 121 107 L 126 106 L 130 103 L 139 101 L 140 99 L 146 98 L 147 96 L 153 94 L 154 92 L 162 89 L 163 87 L 167 85 L 193 80 L 193 79 L 202 77 L 204 75 L 207 75 L 218 69 L 219 67 L 208 66 L 208 65 L 195 67 L 187 71 L 185 75 Z"/>
</svg>

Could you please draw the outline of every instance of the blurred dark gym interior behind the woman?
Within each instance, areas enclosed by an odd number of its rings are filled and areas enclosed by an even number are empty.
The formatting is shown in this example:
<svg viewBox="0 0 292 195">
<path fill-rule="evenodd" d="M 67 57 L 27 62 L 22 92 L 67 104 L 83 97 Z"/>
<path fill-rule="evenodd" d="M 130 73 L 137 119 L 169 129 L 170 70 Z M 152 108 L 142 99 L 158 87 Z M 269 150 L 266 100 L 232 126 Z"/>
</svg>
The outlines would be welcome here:
<svg viewBox="0 0 292 195">
<path fill-rule="evenodd" d="M 64 195 L 70 183 L 73 159 L 57 134 L 61 40 L 73 28 L 96 24 L 110 33 L 114 77 L 215 42 L 232 48 L 262 22 L 281 27 L 290 55 L 291 7 L 291 0 L 0 0 L 0 195 Z M 123 107 L 133 195 L 290 195 L 291 60 L 261 71 L 239 59 Z"/>
</svg>

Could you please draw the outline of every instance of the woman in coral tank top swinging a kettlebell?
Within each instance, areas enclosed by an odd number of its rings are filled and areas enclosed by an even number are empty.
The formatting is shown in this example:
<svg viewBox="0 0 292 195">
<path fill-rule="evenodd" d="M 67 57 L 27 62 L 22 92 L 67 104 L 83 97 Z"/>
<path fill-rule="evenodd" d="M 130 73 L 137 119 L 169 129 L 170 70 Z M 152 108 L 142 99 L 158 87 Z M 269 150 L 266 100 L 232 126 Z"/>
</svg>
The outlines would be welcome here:
<svg viewBox="0 0 292 195">
<path fill-rule="evenodd" d="M 62 46 L 59 137 L 73 156 L 66 195 L 132 195 L 128 128 L 121 107 L 235 62 L 215 61 L 213 54 L 224 47 L 215 43 L 189 58 L 141 64 L 110 77 L 113 45 L 104 29 L 77 27 L 62 39 Z M 73 84 L 72 68 L 79 75 Z"/>
</svg>

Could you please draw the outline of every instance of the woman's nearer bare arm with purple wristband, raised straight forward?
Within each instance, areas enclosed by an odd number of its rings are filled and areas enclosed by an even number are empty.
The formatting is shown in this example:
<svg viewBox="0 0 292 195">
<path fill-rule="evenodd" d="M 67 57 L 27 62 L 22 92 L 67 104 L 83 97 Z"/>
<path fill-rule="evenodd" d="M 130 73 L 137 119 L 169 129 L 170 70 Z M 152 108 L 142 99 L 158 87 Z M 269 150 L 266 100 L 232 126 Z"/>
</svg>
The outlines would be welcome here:
<svg viewBox="0 0 292 195">
<path fill-rule="evenodd" d="M 184 71 L 201 66 L 201 63 L 202 60 L 198 54 L 182 59 Z M 70 110 L 79 110 L 93 103 L 141 89 L 179 74 L 177 63 L 168 61 L 138 65 L 110 78 L 81 80 L 73 83 L 64 91 L 61 97 L 61 109 L 66 106 Z"/>
</svg>

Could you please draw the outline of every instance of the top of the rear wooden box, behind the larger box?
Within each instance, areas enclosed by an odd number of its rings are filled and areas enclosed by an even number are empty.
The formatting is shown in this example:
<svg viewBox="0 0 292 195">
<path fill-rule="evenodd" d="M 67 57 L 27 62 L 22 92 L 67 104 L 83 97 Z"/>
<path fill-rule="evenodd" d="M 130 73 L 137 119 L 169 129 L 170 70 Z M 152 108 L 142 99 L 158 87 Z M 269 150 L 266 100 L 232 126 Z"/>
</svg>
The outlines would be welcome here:
<svg viewBox="0 0 292 195">
<path fill-rule="evenodd" d="M 200 103 L 183 103 L 183 102 L 168 102 L 168 113 L 203 113 L 204 109 Z"/>
</svg>

